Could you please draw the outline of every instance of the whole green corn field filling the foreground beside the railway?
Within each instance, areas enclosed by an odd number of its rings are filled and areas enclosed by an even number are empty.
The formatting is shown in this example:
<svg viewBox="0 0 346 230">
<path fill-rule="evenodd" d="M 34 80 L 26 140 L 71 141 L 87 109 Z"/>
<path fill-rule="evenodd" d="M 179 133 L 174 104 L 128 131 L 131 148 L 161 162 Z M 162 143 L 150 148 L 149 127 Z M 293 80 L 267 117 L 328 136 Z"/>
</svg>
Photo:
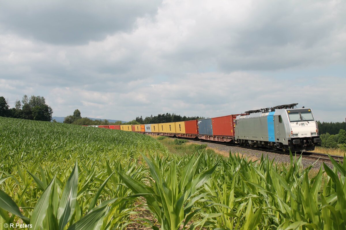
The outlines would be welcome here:
<svg viewBox="0 0 346 230">
<path fill-rule="evenodd" d="M 171 154 L 120 130 L 0 117 L 0 229 L 345 229 L 346 166 Z M 136 217 L 140 208 L 155 218 Z M 6 224 L 26 224 L 11 228 Z"/>
</svg>

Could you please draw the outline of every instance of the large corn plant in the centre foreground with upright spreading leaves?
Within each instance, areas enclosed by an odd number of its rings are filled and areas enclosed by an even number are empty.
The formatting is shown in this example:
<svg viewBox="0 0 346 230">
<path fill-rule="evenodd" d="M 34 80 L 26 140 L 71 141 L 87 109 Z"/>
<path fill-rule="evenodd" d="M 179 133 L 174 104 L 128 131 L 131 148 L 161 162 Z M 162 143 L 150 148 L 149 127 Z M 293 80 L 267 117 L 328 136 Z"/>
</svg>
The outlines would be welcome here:
<svg viewBox="0 0 346 230">
<path fill-rule="evenodd" d="M 181 169 L 181 175 L 178 177 L 177 172 L 180 170 L 177 168 L 176 160 L 170 161 L 169 167 L 162 167 L 164 164 L 167 165 L 167 162 L 163 162 L 158 157 L 149 159 L 143 155 L 148 164 L 150 176 L 153 178 L 151 186 L 134 180 L 124 173 L 119 175 L 135 194 L 145 194 L 143 196 L 147 205 L 157 217 L 162 230 L 177 230 L 182 224 L 185 227 L 199 211 L 194 209 L 194 203 L 206 196 L 206 193 L 199 194 L 200 188 L 207 182 L 217 166 L 215 164 L 210 169 L 198 173 L 201 156 L 197 158 L 192 156 L 186 166 Z M 158 229 L 156 226 L 153 228 Z"/>
</svg>

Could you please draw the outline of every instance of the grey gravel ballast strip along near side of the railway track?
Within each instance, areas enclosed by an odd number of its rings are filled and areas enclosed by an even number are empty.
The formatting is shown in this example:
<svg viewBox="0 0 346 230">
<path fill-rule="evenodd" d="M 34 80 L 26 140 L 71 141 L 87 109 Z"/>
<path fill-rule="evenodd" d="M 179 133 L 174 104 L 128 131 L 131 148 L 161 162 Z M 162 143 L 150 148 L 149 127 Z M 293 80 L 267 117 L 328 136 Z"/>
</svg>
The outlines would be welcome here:
<svg viewBox="0 0 346 230">
<path fill-rule="evenodd" d="M 189 140 L 189 142 L 196 143 L 196 144 L 207 144 L 209 148 L 212 149 L 217 149 L 221 152 L 231 153 L 233 154 L 242 154 L 246 156 L 247 158 L 255 158 L 255 159 L 260 159 L 262 154 L 263 156 L 268 156 L 270 160 L 275 159 L 276 162 L 279 163 L 290 163 L 290 156 L 286 154 L 279 154 L 279 153 L 272 153 L 272 152 L 266 152 L 262 151 L 261 149 L 254 150 L 254 149 L 246 149 L 242 147 L 237 147 L 237 146 L 228 146 L 226 144 L 219 144 L 219 143 L 214 143 L 214 142 L 204 142 L 204 141 L 194 141 L 194 140 Z M 333 169 L 333 164 L 331 162 L 325 162 L 327 166 L 331 169 Z M 302 165 L 304 168 L 307 168 L 308 166 L 312 165 L 312 168 L 318 170 L 322 164 L 322 161 L 315 161 L 315 160 L 310 160 L 306 158 L 302 158 Z"/>
</svg>

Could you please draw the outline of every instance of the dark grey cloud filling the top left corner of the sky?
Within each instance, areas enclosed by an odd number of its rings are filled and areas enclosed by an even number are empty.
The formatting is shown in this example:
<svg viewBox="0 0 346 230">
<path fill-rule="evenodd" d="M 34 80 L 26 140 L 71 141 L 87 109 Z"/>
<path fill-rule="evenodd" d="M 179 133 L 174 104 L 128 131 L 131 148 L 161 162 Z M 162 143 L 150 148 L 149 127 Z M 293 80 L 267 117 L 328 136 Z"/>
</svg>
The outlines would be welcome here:
<svg viewBox="0 0 346 230">
<path fill-rule="evenodd" d="M 85 44 L 119 31 L 130 31 L 138 17 L 155 14 L 160 0 L 2 1 L 5 31 L 52 44 Z"/>
</svg>

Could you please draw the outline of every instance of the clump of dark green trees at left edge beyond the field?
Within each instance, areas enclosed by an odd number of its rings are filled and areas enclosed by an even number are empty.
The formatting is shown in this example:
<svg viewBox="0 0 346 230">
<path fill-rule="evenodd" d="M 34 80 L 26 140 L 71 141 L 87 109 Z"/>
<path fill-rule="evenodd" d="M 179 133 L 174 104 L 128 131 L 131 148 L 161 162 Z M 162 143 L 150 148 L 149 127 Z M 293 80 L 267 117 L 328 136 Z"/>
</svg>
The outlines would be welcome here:
<svg viewBox="0 0 346 230">
<path fill-rule="evenodd" d="M 0 97 L 0 116 L 21 118 L 36 121 L 51 121 L 53 109 L 46 104 L 46 99 L 32 95 L 24 95 L 21 101 L 16 101 L 14 108 L 9 105 L 4 97 Z"/>
</svg>

